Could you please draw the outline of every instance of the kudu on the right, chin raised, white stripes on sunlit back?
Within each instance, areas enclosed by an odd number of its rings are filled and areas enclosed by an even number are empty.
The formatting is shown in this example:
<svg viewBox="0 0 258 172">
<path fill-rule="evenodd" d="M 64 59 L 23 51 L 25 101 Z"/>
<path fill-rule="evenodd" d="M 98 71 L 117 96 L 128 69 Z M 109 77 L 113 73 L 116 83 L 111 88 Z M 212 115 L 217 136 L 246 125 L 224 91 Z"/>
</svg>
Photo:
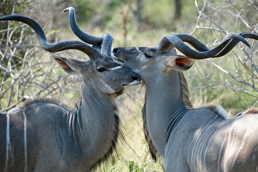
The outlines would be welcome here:
<svg viewBox="0 0 258 172">
<path fill-rule="evenodd" d="M 145 83 L 144 135 L 152 157 L 164 159 L 165 171 L 258 170 L 258 114 L 250 114 L 255 110 L 229 119 L 220 106 L 194 108 L 182 73 L 194 59 L 223 56 L 239 41 L 250 47 L 244 38 L 258 40 L 253 33 L 230 33 L 210 50 L 194 37 L 178 34 L 164 36 L 154 48 L 113 50 L 114 59 Z"/>
</svg>

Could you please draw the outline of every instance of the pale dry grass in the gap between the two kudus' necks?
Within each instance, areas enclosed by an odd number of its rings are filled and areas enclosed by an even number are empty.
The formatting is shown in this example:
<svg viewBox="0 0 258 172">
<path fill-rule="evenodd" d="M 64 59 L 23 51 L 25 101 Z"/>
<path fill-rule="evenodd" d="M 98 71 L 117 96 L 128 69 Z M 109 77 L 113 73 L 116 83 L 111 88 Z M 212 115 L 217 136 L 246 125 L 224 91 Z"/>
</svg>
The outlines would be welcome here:
<svg viewBox="0 0 258 172">
<path fill-rule="evenodd" d="M 122 124 L 125 128 L 126 143 L 117 162 L 105 171 L 164 171 L 159 162 L 154 162 L 149 154 L 142 130 L 141 109 L 144 90 L 138 93 L 140 86 L 127 91 L 118 98 Z"/>
</svg>

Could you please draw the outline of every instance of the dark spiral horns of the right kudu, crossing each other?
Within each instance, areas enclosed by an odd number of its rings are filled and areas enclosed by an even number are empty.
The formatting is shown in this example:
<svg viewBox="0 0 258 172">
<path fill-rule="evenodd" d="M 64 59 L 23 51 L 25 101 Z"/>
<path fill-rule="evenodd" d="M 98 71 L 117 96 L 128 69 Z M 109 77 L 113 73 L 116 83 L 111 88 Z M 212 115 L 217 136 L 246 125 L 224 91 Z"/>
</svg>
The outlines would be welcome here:
<svg viewBox="0 0 258 172">
<path fill-rule="evenodd" d="M 157 48 L 159 49 L 159 52 L 165 53 L 168 51 L 169 47 L 172 45 L 176 49 L 178 49 L 181 53 L 185 54 L 186 56 L 193 58 L 193 59 L 205 59 L 214 57 L 215 55 L 219 54 L 221 51 L 225 49 L 225 47 L 233 40 L 237 39 L 242 41 L 244 44 L 246 44 L 249 48 L 250 45 L 248 42 L 240 35 L 237 35 L 236 33 L 229 33 L 222 43 L 220 43 L 217 47 L 213 49 L 207 48 L 204 44 L 202 44 L 200 41 L 195 39 L 192 36 L 186 35 L 186 34 L 178 34 L 178 35 L 170 35 L 170 36 L 164 36 L 161 41 L 158 43 Z M 198 51 L 195 51 L 191 49 L 189 46 L 187 46 L 183 42 L 190 43 L 194 48 L 196 48 Z M 239 42 L 239 41 L 238 41 Z"/>
</svg>

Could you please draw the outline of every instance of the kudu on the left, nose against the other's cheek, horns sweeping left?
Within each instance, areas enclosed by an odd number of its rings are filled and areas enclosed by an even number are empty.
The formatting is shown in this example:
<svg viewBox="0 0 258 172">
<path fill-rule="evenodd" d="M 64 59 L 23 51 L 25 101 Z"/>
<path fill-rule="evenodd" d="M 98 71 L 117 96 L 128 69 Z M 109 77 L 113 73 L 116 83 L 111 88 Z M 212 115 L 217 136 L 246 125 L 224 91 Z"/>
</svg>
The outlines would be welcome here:
<svg viewBox="0 0 258 172">
<path fill-rule="evenodd" d="M 74 9 L 70 16 L 74 16 Z M 28 24 L 38 35 L 41 46 L 49 52 L 76 49 L 90 58 L 78 61 L 53 57 L 70 75 L 81 75 L 81 107 L 70 111 L 55 101 L 30 100 L 0 114 L 0 171 L 90 171 L 116 153 L 124 140 L 115 99 L 130 85 L 140 83 L 140 76 L 112 59 L 113 38 L 109 34 L 92 37 L 102 44 L 101 52 L 80 41 L 50 44 L 41 26 L 34 20 L 12 15 L 0 20 Z M 71 21 L 70 21 L 71 22 Z M 73 19 L 75 22 L 75 19 Z M 103 43 L 102 43 L 103 42 Z"/>
</svg>

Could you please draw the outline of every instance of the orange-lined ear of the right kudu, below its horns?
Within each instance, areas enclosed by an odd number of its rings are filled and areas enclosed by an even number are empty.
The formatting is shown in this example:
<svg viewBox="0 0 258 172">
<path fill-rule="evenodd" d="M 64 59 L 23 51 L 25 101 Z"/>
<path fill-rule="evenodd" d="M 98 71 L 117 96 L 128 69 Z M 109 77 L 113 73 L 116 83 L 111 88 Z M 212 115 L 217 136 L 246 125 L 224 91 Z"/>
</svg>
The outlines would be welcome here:
<svg viewBox="0 0 258 172">
<path fill-rule="evenodd" d="M 187 71 L 194 64 L 194 59 L 187 56 L 169 56 L 165 59 L 168 69 L 173 69 L 175 71 Z"/>
</svg>

